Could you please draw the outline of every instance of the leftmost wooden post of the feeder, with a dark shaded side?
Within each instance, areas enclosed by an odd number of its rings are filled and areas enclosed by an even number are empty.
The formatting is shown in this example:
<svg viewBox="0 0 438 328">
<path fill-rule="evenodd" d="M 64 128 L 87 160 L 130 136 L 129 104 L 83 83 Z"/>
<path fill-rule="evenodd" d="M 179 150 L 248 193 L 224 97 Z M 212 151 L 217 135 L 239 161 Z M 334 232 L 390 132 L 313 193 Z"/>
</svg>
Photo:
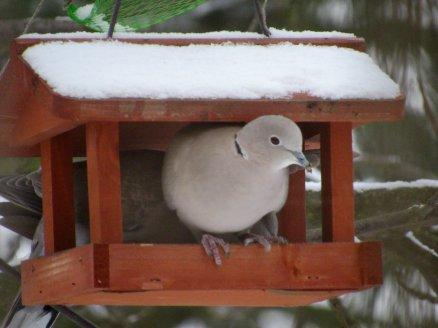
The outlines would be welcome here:
<svg viewBox="0 0 438 328">
<path fill-rule="evenodd" d="M 76 246 L 69 133 L 41 143 L 45 255 Z"/>
</svg>

